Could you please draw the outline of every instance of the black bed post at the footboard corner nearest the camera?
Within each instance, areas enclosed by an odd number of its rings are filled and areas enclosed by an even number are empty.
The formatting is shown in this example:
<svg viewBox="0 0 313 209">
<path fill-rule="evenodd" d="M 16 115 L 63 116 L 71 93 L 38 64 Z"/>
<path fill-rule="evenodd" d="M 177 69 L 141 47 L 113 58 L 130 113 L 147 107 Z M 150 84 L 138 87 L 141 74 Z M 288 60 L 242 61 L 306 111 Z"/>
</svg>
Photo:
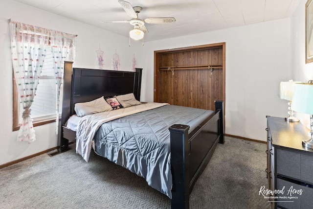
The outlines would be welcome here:
<svg viewBox="0 0 313 209">
<path fill-rule="evenodd" d="M 172 209 L 189 209 L 189 158 L 187 125 L 172 125 L 171 138 L 171 171 L 173 176 Z"/>
</svg>

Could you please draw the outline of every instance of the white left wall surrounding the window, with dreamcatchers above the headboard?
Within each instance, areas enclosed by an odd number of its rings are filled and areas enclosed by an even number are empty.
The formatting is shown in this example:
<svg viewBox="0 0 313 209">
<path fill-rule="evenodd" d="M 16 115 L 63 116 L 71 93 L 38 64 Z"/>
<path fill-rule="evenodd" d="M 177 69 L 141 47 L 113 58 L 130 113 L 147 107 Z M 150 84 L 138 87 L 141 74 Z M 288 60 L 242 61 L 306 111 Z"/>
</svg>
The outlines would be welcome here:
<svg viewBox="0 0 313 209">
<path fill-rule="evenodd" d="M 57 146 L 55 123 L 35 127 L 36 141 L 17 142 L 17 131 L 12 132 L 13 124 L 13 90 L 12 61 L 8 19 L 13 21 L 42 26 L 49 29 L 78 35 L 76 47 L 76 68 L 97 68 L 96 50 L 104 51 L 104 69 L 112 70 L 112 55 L 116 53 L 120 59 L 120 70 L 130 71 L 135 54 L 137 67 L 140 61 L 141 43 L 132 43 L 129 47 L 128 37 L 120 36 L 90 25 L 75 22 L 52 13 L 25 6 L 12 0 L 0 1 L 0 165 L 23 157 L 36 154 Z"/>
</svg>

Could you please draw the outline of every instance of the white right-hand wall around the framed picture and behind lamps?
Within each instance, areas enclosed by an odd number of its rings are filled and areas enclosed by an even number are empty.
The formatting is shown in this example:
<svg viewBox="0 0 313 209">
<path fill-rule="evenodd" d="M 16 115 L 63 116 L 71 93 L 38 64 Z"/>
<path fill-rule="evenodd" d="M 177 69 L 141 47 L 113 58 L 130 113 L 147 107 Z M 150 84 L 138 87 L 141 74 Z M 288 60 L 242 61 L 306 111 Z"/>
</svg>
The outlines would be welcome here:
<svg viewBox="0 0 313 209">
<path fill-rule="evenodd" d="M 305 55 L 305 4 L 307 0 L 301 0 L 291 17 L 291 60 L 292 77 L 294 80 L 307 83 L 313 80 L 313 63 L 306 64 Z M 309 124 L 310 116 L 295 113 L 300 122 Z"/>
</svg>

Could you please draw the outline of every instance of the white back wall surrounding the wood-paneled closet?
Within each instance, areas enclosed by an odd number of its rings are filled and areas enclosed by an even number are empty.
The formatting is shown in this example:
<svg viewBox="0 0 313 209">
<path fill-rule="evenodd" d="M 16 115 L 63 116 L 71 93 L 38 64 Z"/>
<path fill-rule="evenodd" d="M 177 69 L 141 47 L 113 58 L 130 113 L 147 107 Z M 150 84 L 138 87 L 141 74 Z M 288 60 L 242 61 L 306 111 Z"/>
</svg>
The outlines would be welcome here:
<svg viewBox="0 0 313 209">
<path fill-rule="evenodd" d="M 154 51 L 226 43 L 226 134 L 266 140 L 266 116 L 287 116 L 278 98 L 280 81 L 291 79 L 290 19 L 250 24 L 145 43 L 142 97 L 153 101 Z"/>
</svg>

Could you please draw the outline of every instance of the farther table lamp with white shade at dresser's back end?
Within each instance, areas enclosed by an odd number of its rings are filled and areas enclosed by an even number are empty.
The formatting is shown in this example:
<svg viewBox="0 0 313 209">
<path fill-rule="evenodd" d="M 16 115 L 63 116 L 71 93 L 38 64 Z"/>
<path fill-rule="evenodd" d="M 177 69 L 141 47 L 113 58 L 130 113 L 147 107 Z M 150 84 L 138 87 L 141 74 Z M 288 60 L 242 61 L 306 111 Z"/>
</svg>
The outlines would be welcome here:
<svg viewBox="0 0 313 209">
<path fill-rule="evenodd" d="M 298 122 L 299 119 L 293 116 L 293 111 L 291 110 L 291 104 L 292 104 L 292 95 L 293 95 L 293 87 L 295 83 L 301 83 L 298 81 L 282 81 L 279 85 L 279 98 L 289 100 L 288 102 L 288 114 L 289 116 L 285 117 L 285 120 L 291 121 L 291 122 Z"/>
</svg>

